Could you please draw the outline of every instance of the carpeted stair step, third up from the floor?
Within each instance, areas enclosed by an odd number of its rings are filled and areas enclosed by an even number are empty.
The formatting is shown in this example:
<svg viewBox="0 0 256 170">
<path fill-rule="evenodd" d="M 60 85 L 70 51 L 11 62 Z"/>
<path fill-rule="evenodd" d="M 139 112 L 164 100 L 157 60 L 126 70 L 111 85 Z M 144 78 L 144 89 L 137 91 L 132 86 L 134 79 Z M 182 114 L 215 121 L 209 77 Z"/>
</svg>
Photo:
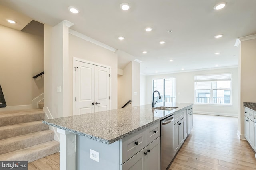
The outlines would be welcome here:
<svg viewBox="0 0 256 170">
<path fill-rule="evenodd" d="M 0 127 L 0 139 L 25 135 L 47 129 L 49 129 L 49 126 L 42 123 L 42 121 L 32 121 L 16 125 L 2 126 Z"/>
</svg>

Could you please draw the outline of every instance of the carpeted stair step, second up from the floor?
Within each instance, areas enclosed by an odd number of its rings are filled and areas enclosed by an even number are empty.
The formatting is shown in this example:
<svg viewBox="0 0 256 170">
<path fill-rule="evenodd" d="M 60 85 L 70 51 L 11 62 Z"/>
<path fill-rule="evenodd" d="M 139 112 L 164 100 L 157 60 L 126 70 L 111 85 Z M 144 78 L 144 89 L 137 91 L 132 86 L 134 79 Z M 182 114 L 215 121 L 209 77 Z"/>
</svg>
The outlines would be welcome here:
<svg viewBox="0 0 256 170">
<path fill-rule="evenodd" d="M 0 140 L 0 154 L 24 149 L 54 139 L 54 131 L 45 130 Z"/>
</svg>

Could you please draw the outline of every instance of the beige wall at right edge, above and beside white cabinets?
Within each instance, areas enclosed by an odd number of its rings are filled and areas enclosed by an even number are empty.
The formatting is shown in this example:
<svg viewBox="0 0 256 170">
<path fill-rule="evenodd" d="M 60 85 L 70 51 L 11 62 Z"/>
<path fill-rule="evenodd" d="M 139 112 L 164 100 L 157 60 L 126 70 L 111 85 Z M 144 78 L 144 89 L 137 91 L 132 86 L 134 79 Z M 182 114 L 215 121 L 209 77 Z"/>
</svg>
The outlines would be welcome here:
<svg viewBox="0 0 256 170">
<path fill-rule="evenodd" d="M 256 103 L 256 39 L 241 41 L 240 131 L 244 134 L 244 102 Z M 239 133 L 239 132 L 238 132 Z"/>
</svg>

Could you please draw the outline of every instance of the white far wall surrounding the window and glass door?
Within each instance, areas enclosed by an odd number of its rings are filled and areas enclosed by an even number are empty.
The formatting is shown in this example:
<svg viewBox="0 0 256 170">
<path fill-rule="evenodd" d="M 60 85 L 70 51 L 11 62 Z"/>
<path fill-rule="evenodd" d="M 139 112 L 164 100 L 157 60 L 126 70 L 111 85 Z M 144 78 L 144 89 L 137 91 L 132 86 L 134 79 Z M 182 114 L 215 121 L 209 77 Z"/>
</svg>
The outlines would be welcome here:
<svg viewBox="0 0 256 170">
<path fill-rule="evenodd" d="M 146 76 L 146 104 L 152 103 L 152 80 L 158 78 L 176 78 L 176 102 L 194 103 L 194 76 L 203 74 L 232 73 L 232 105 L 194 104 L 195 113 L 238 116 L 238 68 L 203 70 Z M 179 94 L 180 93 L 180 94 Z"/>
</svg>

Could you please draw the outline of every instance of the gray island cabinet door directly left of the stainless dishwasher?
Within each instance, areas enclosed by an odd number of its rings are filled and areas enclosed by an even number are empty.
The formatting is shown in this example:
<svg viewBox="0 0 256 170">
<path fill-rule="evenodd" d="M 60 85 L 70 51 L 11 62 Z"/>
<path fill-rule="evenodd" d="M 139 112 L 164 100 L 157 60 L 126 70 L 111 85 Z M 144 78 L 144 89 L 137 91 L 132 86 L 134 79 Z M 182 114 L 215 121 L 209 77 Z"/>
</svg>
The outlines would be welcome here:
<svg viewBox="0 0 256 170">
<path fill-rule="evenodd" d="M 161 146 L 160 146 L 160 137 L 150 143 L 147 149 L 147 156 L 146 156 L 146 169 L 147 170 L 160 170 L 161 168 Z"/>
</svg>

